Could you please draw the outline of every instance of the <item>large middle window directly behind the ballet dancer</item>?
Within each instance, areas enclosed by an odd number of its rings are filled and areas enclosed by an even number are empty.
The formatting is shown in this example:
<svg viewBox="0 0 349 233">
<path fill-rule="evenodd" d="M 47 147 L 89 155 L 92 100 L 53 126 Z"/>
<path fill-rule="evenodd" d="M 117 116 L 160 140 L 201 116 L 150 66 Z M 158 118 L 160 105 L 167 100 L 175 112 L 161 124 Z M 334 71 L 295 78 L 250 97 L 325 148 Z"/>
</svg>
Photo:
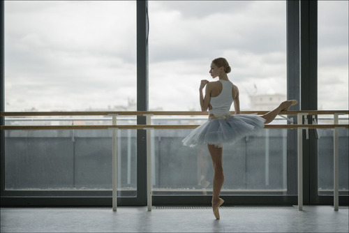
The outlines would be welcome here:
<svg viewBox="0 0 349 233">
<path fill-rule="evenodd" d="M 211 81 L 209 66 L 216 57 L 225 57 L 232 67 L 228 77 L 239 87 L 242 110 L 277 107 L 279 103 L 272 101 L 274 96 L 286 93 L 285 4 L 149 1 L 149 109 L 200 111 L 200 80 Z M 258 104 L 253 105 L 255 102 Z M 206 119 L 178 118 L 176 123 L 196 124 Z M 158 121 L 165 124 L 174 119 Z M 189 132 L 156 130 L 154 195 L 211 192 L 212 167 L 207 146 L 183 146 L 181 140 Z M 225 146 L 223 160 L 230 179 L 225 181 L 223 194 L 283 195 L 287 190 L 285 138 L 283 130 L 264 130 L 234 146 Z"/>
</svg>

